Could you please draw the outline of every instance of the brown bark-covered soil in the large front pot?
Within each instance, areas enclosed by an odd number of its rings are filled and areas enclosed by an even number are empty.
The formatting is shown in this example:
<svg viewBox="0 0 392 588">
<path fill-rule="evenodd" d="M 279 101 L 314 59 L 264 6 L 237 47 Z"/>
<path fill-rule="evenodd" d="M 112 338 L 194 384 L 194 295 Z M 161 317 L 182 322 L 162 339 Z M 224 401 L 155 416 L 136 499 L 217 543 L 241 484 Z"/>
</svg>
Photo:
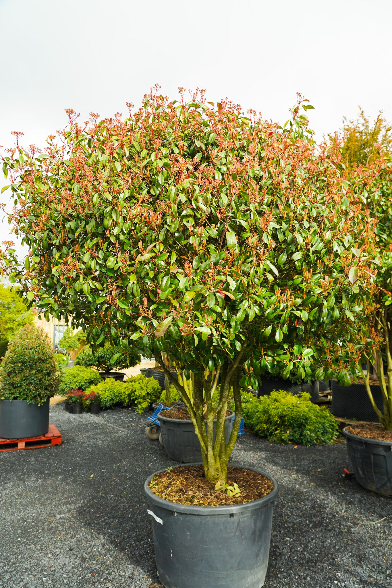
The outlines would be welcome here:
<svg viewBox="0 0 392 588">
<path fill-rule="evenodd" d="M 205 477 L 204 467 L 181 466 L 167 469 L 153 477 L 149 484 L 151 492 L 170 502 L 181 505 L 224 506 L 243 505 L 266 496 L 273 490 L 273 483 L 259 472 L 242 467 L 227 467 L 227 484 L 236 483 L 241 490 L 239 496 L 227 496 L 227 492 L 216 491 Z"/>
</svg>

